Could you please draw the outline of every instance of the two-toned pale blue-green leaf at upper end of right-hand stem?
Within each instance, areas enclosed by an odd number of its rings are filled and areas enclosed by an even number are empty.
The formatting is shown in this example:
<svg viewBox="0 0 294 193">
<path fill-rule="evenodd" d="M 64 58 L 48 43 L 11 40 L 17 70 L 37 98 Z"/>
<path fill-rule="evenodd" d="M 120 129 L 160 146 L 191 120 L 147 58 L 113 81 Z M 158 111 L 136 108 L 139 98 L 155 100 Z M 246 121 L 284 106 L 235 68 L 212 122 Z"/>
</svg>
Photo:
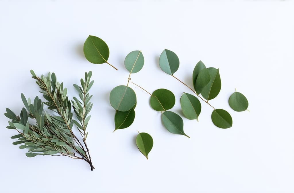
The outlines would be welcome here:
<svg viewBox="0 0 294 193">
<path fill-rule="evenodd" d="M 173 75 L 180 65 L 178 56 L 170 50 L 164 49 L 159 57 L 159 66 L 166 74 Z"/>
</svg>

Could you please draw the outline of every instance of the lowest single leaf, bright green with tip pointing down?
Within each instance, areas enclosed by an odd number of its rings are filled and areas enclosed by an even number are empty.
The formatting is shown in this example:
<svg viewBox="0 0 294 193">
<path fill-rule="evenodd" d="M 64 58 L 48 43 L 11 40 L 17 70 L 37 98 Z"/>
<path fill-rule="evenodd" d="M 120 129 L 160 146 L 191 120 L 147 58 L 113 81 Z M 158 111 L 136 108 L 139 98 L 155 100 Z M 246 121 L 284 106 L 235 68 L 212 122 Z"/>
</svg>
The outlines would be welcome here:
<svg viewBox="0 0 294 193">
<path fill-rule="evenodd" d="M 148 154 L 153 147 L 153 139 L 148 133 L 139 133 L 136 137 L 136 144 L 140 152 L 148 159 Z"/>
</svg>

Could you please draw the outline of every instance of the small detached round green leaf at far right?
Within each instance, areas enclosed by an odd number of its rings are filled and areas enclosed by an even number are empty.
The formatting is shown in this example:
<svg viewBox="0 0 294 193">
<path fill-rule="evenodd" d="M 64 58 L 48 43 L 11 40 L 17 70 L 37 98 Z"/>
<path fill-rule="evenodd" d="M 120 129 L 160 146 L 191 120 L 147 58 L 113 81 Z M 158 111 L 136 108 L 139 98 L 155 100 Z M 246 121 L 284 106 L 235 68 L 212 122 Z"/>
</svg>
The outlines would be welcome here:
<svg viewBox="0 0 294 193">
<path fill-rule="evenodd" d="M 245 111 L 248 108 L 248 100 L 240 92 L 234 92 L 229 98 L 229 105 L 234 111 Z"/>
</svg>

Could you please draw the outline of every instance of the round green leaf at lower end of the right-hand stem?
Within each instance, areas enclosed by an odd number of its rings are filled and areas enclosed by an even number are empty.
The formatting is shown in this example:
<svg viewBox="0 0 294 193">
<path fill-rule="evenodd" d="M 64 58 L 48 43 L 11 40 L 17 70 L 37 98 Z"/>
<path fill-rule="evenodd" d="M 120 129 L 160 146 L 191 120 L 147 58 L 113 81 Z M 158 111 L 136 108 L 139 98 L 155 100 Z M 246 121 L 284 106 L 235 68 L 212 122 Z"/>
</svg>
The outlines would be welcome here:
<svg viewBox="0 0 294 193">
<path fill-rule="evenodd" d="M 211 114 L 211 120 L 216 127 L 227 129 L 232 127 L 233 120 L 230 114 L 223 109 L 215 109 Z"/>
</svg>

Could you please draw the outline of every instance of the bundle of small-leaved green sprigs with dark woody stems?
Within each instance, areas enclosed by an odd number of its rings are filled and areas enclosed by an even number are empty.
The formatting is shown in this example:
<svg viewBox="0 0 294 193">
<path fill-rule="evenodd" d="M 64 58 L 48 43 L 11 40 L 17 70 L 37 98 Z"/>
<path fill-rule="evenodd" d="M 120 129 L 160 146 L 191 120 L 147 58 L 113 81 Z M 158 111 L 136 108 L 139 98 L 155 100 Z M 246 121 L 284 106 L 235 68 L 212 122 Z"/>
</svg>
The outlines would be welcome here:
<svg viewBox="0 0 294 193">
<path fill-rule="evenodd" d="M 81 79 L 81 86 L 74 84 L 80 99 L 73 97 L 72 101 L 69 101 L 66 96 L 67 89 L 63 88 L 63 83 L 56 80 L 54 73 L 49 72 L 47 76 L 38 77 L 31 70 L 31 74 L 32 78 L 37 80 L 36 83 L 46 102 L 42 102 L 36 96 L 31 103 L 30 98 L 26 99 L 24 94 L 21 94 L 25 108 L 22 108 L 19 116 L 6 108 L 5 116 L 11 119 L 7 128 L 18 132 L 17 135 L 11 137 L 11 139 L 18 139 L 13 144 L 21 144 L 20 149 L 27 148 L 27 157 L 67 156 L 85 160 L 93 170 L 86 144 L 88 136 L 86 129 L 91 117 L 88 114 L 93 106 L 90 102 L 92 95 L 88 93 L 94 82 L 90 81 L 92 72 L 85 73 L 85 79 Z M 44 110 L 44 104 L 48 106 L 48 112 Z M 77 120 L 73 119 L 71 107 L 74 109 Z M 74 125 L 82 140 L 74 134 Z"/>
</svg>

